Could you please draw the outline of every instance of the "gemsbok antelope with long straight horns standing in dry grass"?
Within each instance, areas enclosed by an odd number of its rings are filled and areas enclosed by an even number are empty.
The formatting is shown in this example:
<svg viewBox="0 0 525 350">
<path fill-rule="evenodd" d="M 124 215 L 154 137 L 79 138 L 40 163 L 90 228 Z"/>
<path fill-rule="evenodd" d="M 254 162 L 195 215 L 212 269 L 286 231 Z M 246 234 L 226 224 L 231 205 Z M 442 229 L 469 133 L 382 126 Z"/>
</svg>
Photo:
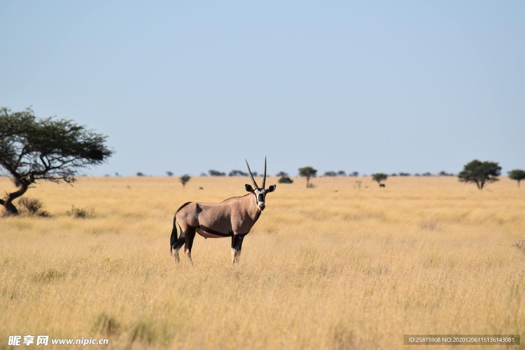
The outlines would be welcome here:
<svg viewBox="0 0 525 350">
<path fill-rule="evenodd" d="M 246 160 L 245 160 L 246 161 Z M 265 188 L 266 185 L 266 157 L 264 159 L 264 175 L 262 186 L 257 186 L 254 175 L 251 174 L 250 166 L 246 161 L 251 183 L 254 187 L 246 184 L 247 195 L 232 197 L 217 204 L 197 203 L 188 201 L 184 203 L 175 213 L 173 218 L 173 229 L 171 231 L 170 252 L 176 262 L 178 250 L 184 245 L 184 252 L 188 260 L 192 262 L 192 246 L 195 233 L 204 238 L 232 237 L 232 263 L 237 263 L 240 250 L 243 247 L 244 236 L 259 219 L 262 210 L 265 209 L 266 195 L 274 192 L 276 185 Z M 177 227 L 181 230 L 181 236 L 177 238 Z M 193 262 L 192 262 L 193 263 Z"/>
</svg>

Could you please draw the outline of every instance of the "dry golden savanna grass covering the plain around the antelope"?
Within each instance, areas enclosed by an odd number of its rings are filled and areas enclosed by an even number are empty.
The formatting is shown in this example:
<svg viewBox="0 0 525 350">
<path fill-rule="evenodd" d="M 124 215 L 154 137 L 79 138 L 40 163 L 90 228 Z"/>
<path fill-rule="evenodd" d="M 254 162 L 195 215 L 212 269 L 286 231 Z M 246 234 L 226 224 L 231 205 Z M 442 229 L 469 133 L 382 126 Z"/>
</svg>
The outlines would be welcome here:
<svg viewBox="0 0 525 350">
<path fill-rule="evenodd" d="M 39 184 L 27 196 L 50 218 L 0 219 L 0 348 L 16 334 L 109 338 L 88 345 L 107 349 L 402 348 L 403 334 L 525 343 L 525 255 L 513 246 L 525 188 L 359 179 L 360 190 L 352 177 L 278 185 L 234 267 L 229 238 L 200 236 L 194 266 L 183 254 L 176 265 L 172 218 L 188 200 L 244 195 L 247 178 Z M 71 205 L 94 217 L 68 216 Z"/>
</svg>

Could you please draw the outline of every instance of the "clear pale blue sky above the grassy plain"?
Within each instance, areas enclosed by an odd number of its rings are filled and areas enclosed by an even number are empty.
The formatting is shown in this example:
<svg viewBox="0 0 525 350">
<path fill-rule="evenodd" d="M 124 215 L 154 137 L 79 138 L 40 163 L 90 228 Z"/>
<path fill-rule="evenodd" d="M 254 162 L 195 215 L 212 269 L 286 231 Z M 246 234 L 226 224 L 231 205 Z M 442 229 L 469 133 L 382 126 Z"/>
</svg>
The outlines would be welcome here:
<svg viewBox="0 0 525 350">
<path fill-rule="evenodd" d="M 525 2 L 3 1 L 0 105 L 74 119 L 93 175 L 525 168 Z"/>
</svg>

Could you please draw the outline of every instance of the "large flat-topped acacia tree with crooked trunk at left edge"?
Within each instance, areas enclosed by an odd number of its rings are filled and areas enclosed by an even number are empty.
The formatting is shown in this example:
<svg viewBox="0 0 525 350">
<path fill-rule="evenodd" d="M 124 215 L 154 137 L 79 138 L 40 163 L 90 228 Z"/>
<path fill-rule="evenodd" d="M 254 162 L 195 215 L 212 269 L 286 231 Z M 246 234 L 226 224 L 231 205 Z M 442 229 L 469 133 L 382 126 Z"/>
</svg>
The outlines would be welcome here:
<svg viewBox="0 0 525 350">
<path fill-rule="evenodd" d="M 0 166 L 18 187 L 0 199 L 4 215 L 18 215 L 13 201 L 37 181 L 72 184 L 79 169 L 106 161 L 106 138 L 72 120 L 38 119 L 30 108 L 0 108 Z"/>
</svg>

